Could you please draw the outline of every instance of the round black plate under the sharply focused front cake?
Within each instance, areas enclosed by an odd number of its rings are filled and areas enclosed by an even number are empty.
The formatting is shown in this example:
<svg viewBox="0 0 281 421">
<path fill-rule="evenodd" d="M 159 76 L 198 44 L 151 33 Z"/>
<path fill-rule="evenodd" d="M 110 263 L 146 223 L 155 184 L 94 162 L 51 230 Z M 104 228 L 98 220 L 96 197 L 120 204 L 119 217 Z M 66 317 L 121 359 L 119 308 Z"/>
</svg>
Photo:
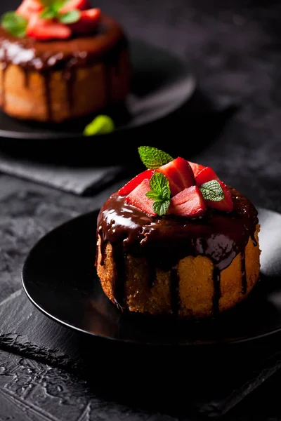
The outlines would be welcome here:
<svg viewBox="0 0 281 421">
<path fill-rule="evenodd" d="M 82 215 L 54 229 L 25 262 L 22 283 L 27 296 L 55 321 L 91 335 L 155 345 L 242 342 L 281 329 L 281 215 L 259 209 L 259 286 L 234 311 L 199 323 L 125 315 L 112 305 L 94 268 L 97 215 Z"/>
</svg>

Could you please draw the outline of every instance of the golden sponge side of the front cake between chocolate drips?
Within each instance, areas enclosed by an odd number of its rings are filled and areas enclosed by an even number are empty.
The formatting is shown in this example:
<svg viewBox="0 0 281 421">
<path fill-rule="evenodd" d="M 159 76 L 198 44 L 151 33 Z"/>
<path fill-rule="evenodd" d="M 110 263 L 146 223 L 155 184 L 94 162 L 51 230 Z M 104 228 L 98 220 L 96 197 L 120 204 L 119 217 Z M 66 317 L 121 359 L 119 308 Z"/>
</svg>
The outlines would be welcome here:
<svg viewBox="0 0 281 421">
<path fill-rule="evenodd" d="M 259 225 L 254 234 L 258 243 Z M 244 250 L 244 262 L 241 253 L 221 272 L 221 298 L 217 312 L 223 312 L 247 298 L 259 281 L 259 246 L 254 246 L 249 239 Z M 98 262 L 101 259 L 100 239 L 98 240 Z M 244 269 L 245 264 L 245 269 Z M 124 279 L 123 307 L 130 312 L 149 314 L 173 314 L 173 277 L 171 270 L 155 268 L 154 279 L 151 279 L 150 266 L 145 258 L 134 258 L 126 255 L 126 279 Z M 115 260 L 112 246 L 107 243 L 104 265 L 97 265 L 101 286 L 108 298 L 116 304 L 115 299 Z M 178 316 L 187 319 L 200 319 L 214 314 L 214 264 L 205 256 L 187 256 L 177 265 L 178 290 L 176 300 Z M 243 290 L 246 283 L 247 288 Z M 175 298 L 174 298 L 175 300 Z"/>
</svg>

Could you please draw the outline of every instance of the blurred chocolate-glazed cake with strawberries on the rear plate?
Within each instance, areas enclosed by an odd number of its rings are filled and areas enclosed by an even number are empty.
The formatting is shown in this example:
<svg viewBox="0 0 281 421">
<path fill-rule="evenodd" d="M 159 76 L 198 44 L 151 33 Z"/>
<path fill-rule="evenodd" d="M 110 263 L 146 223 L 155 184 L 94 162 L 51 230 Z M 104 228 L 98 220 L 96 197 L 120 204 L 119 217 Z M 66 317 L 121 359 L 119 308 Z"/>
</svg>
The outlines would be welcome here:
<svg viewBox="0 0 281 421">
<path fill-rule="evenodd" d="M 2 18 L 0 105 L 17 119 L 60 123 L 124 103 L 129 92 L 122 27 L 87 0 L 57 4 L 24 0 Z"/>
</svg>

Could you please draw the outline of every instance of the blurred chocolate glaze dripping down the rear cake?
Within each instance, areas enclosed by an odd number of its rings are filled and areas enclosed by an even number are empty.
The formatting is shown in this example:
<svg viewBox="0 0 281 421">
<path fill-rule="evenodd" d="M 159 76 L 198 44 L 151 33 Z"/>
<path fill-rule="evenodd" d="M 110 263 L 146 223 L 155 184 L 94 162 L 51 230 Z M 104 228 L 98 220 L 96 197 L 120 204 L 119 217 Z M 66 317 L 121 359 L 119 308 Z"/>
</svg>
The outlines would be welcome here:
<svg viewBox="0 0 281 421">
<path fill-rule="evenodd" d="M 0 62 L 2 72 L 2 107 L 5 107 L 5 76 L 9 65 L 19 65 L 25 74 L 28 87 L 30 72 L 44 76 L 46 107 L 51 119 L 51 72 L 63 72 L 67 86 L 70 109 L 73 105 L 73 88 L 79 67 L 93 66 L 96 62 L 105 65 L 105 91 L 107 102 L 112 96 L 111 69 L 118 67 L 121 52 L 127 48 L 126 37 L 119 24 L 107 15 L 100 20 L 94 34 L 79 36 L 64 41 L 37 41 L 32 38 L 19 39 L 0 27 Z"/>
</svg>

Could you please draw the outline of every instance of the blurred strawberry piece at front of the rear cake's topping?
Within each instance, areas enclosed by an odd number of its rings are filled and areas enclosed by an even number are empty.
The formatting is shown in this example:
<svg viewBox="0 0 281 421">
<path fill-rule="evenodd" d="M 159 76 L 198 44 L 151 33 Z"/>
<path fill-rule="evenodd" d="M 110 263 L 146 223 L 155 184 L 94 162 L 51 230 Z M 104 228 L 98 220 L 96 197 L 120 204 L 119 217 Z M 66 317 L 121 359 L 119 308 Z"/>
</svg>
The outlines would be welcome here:
<svg viewBox="0 0 281 421">
<path fill-rule="evenodd" d="M 39 41 L 68 39 L 72 36 L 72 30 L 63 23 L 41 19 L 39 15 L 32 15 L 27 25 L 27 36 Z"/>
</svg>

